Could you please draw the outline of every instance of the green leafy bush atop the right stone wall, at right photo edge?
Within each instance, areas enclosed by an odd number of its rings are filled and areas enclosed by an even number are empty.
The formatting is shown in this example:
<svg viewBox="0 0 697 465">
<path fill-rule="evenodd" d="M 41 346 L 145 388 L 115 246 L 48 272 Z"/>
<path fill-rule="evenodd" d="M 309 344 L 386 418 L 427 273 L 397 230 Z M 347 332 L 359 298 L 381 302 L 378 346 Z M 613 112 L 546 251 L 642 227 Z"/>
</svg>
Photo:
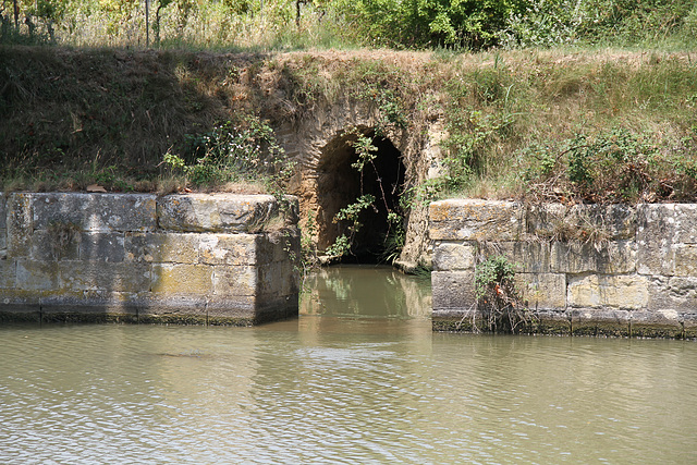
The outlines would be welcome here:
<svg viewBox="0 0 697 465">
<path fill-rule="evenodd" d="M 684 200 L 694 198 L 694 142 L 683 140 L 670 157 L 648 135 L 613 129 L 576 134 L 558 145 L 524 149 L 533 164 L 530 192 L 546 199 L 588 203 Z M 683 152 L 685 155 L 677 156 Z M 551 197 L 551 198 L 550 198 Z"/>
</svg>

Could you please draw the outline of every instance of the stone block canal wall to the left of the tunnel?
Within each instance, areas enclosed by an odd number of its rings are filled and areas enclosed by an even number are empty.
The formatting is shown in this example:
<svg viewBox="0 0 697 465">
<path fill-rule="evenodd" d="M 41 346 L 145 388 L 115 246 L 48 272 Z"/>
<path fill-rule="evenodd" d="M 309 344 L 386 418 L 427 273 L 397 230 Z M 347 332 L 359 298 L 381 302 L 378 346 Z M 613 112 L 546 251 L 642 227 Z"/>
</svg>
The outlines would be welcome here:
<svg viewBox="0 0 697 465">
<path fill-rule="evenodd" d="M 298 207 L 286 200 L 0 193 L 0 320 L 254 325 L 297 315 Z"/>
</svg>

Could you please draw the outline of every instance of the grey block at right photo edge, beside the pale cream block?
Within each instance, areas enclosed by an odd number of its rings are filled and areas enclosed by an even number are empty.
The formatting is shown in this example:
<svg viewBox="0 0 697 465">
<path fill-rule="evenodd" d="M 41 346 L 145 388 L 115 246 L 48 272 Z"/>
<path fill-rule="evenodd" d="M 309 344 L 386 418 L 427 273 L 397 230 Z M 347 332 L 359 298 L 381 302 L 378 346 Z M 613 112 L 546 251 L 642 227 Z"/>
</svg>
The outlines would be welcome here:
<svg viewBox="0 0 697 465">
<path fill-rule="evenodd" d="M 697 314 L 697 276 L 650 277 L 648 292 L 650 311 L 677 310 Z"/>
</svg>

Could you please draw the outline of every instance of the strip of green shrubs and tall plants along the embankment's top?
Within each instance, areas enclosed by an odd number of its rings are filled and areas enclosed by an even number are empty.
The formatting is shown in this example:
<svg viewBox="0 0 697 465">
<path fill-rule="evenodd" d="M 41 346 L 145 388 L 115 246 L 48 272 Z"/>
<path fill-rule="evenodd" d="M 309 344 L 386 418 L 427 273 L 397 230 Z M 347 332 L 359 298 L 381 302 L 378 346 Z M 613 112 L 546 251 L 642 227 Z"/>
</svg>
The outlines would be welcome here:
<svg viewBox="0 0 697 465">
<path fill-rule="evenodd" d="M 0 16 L 5 42 L 227 50 L 684 48 L 697 29 L 692 0 L 3 0 Z"/>
</svg>

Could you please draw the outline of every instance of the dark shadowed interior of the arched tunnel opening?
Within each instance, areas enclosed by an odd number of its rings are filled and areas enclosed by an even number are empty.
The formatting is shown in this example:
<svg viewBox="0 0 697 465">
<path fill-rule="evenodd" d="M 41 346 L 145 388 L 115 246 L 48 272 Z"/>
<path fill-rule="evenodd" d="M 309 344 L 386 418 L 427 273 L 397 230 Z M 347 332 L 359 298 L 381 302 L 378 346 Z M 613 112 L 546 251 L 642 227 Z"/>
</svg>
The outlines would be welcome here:
<svg viewBox="0 0 697 465">
<path fill-rule="evenodd" d="M 356 134 L 357 133 L 357 134 Z M 352 164 L 358 161 L 354 143 L 358 134 L 368 137 L 377 148 L 375 159 L 360 172 Z M 402 152 L 375 127 L 358 126 L 356 131 L 339 132 L 320 150 L 317 164 L 317 246 L 320 250 L 331 246 L 337 237 L 346 233 L 346 221 L 334 221 L 337 213 L 365 194 L 372 195 L 372 208 L 360 213 L 360 229 L 356 232 L 351 254 L 344 261 L 376 262 L 388 245 L 386 237 L 394 232 L 388 213 L 403 217 L 400 196 L 404 188 L 406 169 Z"/>
</svg>

